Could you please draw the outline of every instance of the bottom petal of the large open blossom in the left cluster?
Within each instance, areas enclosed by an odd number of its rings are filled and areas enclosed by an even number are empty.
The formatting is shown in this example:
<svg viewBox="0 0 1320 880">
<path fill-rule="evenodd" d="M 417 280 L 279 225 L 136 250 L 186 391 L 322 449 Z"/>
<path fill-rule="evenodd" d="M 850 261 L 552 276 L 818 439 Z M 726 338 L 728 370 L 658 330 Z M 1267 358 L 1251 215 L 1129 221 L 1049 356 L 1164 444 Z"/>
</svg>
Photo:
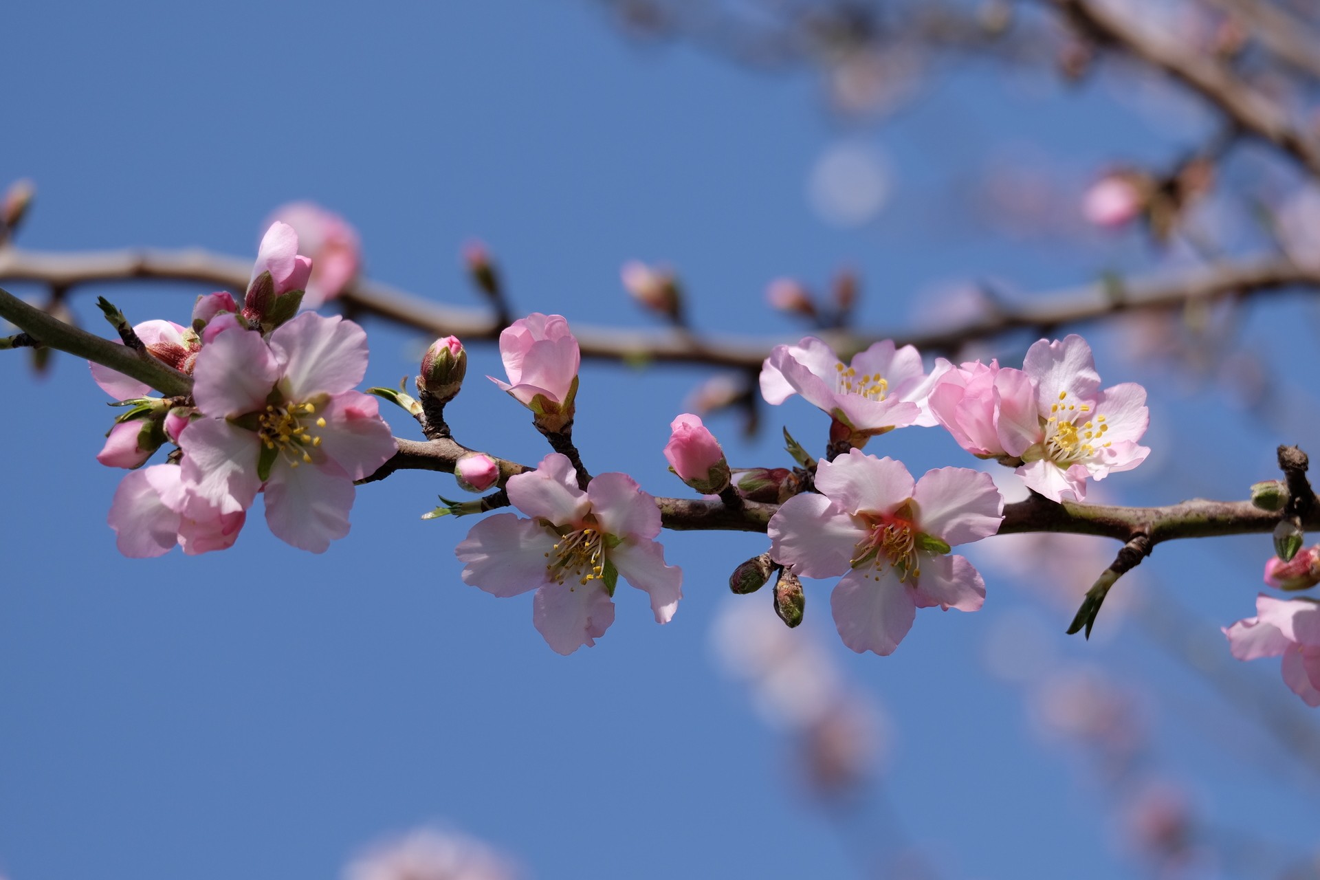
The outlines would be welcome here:
<svg viewBox="0 0 1320 880">
<path fill-rule="evenodd" d="M 265 524 L 285 544 L 325 553 L 348 534 L 352 479 L 334 462 L 292 467 L 276 460 L 265 483 Z"/>
</svg>

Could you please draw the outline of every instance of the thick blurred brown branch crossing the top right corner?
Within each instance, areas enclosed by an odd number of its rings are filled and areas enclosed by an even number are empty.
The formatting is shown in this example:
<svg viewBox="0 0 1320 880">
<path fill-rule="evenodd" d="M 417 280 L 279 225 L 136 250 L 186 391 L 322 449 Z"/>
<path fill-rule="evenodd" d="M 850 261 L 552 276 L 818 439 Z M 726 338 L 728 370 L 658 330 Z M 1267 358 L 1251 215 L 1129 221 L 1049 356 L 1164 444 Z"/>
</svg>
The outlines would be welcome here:
<svg viewBox="0 0 1320 880">
<path fill-rule="evenodd" d="M 1251 88 L 1224 62 L 1150 33 L 1094 0 L 1047 1 L 1084 33 L 1102 44 L 1117 45 L 1181 82 L 1243 132 L 1274 144 L 1320 177 L 1320 144 L 1296 128 L 1287 111 Z"/>
</svg>

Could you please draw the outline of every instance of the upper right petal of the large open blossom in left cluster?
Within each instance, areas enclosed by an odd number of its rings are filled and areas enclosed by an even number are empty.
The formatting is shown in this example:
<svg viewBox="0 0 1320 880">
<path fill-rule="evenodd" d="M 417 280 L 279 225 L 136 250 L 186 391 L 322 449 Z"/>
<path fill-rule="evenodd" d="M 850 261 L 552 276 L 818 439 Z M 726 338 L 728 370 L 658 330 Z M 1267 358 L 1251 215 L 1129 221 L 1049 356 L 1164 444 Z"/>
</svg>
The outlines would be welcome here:
<svg viewBox="0 0 1320 880">
<path fill-rule="evenodd" d="M 294 401 L 352 391 L 367 373 L 367 334 L 339 315 L 304 311 L 271 334 L 271 351 L 284 369 L 280 387 Z"/>
</svg>

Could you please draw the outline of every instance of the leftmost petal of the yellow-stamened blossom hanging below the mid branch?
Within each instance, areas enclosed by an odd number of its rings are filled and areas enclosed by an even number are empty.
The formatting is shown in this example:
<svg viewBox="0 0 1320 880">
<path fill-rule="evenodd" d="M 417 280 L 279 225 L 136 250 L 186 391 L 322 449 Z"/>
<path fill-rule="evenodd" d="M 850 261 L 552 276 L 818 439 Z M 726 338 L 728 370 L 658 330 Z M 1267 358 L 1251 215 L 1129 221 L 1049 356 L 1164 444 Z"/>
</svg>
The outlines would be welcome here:
<svg viewBox="0 0 1320 880">
<path fill-rule="evenodd" d="M 516 596 L 549 583 L 558 536 L 535 520 L 513 513 L 488 516 L 471 528 L 454 553 L 463 566 L 463 583 L 495 596 Z"/>
</svg>

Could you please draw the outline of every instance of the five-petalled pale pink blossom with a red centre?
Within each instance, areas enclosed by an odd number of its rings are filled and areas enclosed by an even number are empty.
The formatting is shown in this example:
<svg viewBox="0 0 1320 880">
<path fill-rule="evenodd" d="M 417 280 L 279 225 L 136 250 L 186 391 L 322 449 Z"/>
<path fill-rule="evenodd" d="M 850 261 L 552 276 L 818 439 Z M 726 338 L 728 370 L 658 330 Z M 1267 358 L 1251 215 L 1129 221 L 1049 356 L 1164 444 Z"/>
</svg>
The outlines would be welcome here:
<svg viewBox="0 0 1320 880">
<path fill-rule="evenodd" d="M 830 607 L 843 644 L 890 654 L 917 608 L 977 611 L 985 582 L 960 544 L 994 534 L 1003 497 L 989 474 L 928 471 L 849 450 L 816 472 L 821 495 L 795 495 L 771 517 L 771 557 L 808 578 L 843 575 Z"/>
</svg>

